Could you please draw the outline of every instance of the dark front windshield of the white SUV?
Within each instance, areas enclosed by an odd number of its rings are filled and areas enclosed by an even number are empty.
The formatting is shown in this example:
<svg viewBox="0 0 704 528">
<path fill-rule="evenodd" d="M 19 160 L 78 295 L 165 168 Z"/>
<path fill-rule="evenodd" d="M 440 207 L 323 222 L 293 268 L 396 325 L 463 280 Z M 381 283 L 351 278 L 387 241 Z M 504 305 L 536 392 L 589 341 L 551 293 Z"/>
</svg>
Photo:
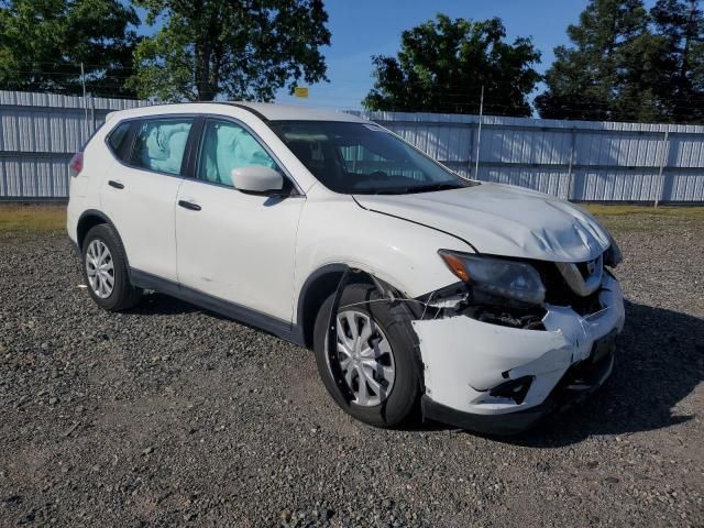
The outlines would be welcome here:
<svg viewBox="0 0 704 528">
<path fill-rule="evenodd" d="M 373 123 L 275 121 L 274 131 L 336 193 L 402 195 L 477 185 Z"/>
</svg>

